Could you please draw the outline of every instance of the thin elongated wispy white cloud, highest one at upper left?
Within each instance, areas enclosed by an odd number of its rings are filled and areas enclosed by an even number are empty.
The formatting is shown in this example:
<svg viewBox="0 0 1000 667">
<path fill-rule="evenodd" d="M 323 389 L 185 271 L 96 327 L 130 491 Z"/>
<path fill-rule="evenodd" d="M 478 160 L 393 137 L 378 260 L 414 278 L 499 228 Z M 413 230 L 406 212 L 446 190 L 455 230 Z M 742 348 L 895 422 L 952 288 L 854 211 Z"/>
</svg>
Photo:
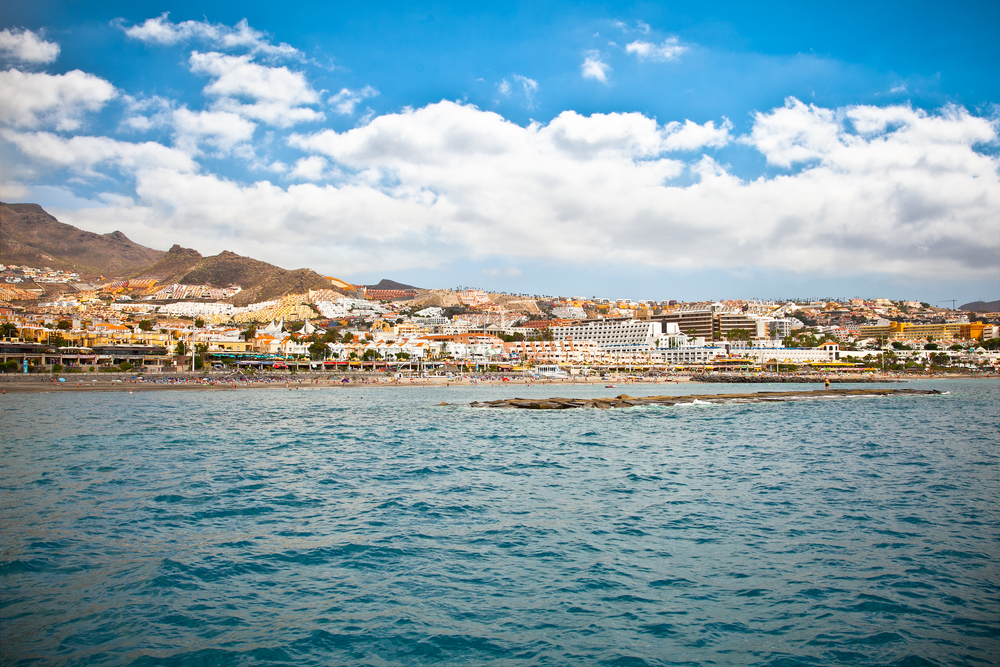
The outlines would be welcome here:
<svg viewBox="0 0 1000 667">
<path fill-rule="evenodd" d="M 202 41 L 217 49 L 246 49 L 272 57 L 300 58 L 302 53 L 288 44 L 272 44 L 268 35 L 254 30 L 246 19 L 233 27 L 208 21 L 182 21 L 171 23 L 169 12 L 141 25 L 124 28 L 125 34 L 147 44 L 172 45 L 188 41 Z M 119 21 L 119 23 L 121 23 Z"/>
</svg>

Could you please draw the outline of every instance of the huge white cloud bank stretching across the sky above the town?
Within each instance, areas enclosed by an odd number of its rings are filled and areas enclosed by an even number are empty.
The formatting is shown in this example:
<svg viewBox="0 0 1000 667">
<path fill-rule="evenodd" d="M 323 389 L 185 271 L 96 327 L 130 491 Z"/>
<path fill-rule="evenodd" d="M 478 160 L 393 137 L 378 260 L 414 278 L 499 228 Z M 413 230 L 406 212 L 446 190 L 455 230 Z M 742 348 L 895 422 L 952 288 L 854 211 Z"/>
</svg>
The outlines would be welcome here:
<svg viewBox="0 0 1000 667">
<path fill-rule="evenodd" d="M 142 239 L 166 229 L 170 243 L 197 238 L 200 248 L 344 274 L 461 256 L 487 266 L 976 278 L 995 275 L 1000 254 L 1000 161 L 981 150 L 996 145 L 997 126 L 959 107 L 790 99 L 756 114 L 738 139 L 790 170 L 752 180 L 703 154 L 734 141 L 728 121 L 660 124 L 637 113 L 567 111 L 521 127 L 443 101 L 292 135 L 306 156 L 284 178 L 337 180 L 286 187 L 204 173 L 152 143 L 6 132 L 39 164 L 133 174 L 134 198 L 78 211 L 74 224 Z"/>
</svg>

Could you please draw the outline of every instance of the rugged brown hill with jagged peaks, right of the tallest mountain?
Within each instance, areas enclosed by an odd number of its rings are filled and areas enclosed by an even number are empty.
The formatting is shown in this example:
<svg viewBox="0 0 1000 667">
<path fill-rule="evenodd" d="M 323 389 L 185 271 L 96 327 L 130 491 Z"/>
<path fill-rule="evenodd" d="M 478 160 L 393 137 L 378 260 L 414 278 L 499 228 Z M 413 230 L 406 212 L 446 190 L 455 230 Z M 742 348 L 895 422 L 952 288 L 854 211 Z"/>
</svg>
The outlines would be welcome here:
<svg viewBox="0 0 1000 667">
<path fill-rule="evenodd" d="M 156 278 L 162 284 L 239 285 L 243 291 L 230 299 L 237 306 L 269 301 L 285 294 L 301 294 L 311 289 L 334 289 L 343 293 L 311 269 L 288 271 L 228 250 L 202 257 L 198 251 L 179 245 L 174 245 L 163 259 L 132 277 Z"/>
</svg>

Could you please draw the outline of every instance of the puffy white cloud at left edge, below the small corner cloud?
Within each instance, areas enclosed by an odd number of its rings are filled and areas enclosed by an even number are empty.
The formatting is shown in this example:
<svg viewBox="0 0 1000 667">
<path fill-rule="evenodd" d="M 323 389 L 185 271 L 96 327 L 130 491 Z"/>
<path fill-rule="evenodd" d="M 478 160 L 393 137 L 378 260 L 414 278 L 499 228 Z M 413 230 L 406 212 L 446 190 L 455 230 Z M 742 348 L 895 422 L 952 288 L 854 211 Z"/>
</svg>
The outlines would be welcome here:
<svg viewBox="0 0 1000 667">
<path fill-rule="evenodd" d="M 72 131 L 85 113 L 100 110 L 116 94 L 110 83 L 80 70 L 45 74 L 8 69 L 0 72 L 0 123 Z"/>
</svg>

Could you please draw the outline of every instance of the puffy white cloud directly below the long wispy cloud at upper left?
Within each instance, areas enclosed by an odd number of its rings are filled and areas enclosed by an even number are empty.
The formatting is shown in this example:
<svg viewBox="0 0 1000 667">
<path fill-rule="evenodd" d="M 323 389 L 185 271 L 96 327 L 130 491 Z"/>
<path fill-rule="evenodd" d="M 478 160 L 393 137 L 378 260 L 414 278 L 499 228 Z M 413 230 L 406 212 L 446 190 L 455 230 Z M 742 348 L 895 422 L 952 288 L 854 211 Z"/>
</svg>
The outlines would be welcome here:
<svg viewBox="0 0 1000 667">
<path fill-rule="evenodd" d="M 303 105 L 316 104 L 319 93 L 305 75 L 287 67 L 267 67 L 253 62 L 253 56 L 198 53 L 190 58 L 191 71 L 214 80 L 203 89 L 218 98 L 213 108 L 236 113 L 277 127 L 323 120 L 321 112 Z M 244 104 L 241 99 L 251 100 Z"/>
</svg>

